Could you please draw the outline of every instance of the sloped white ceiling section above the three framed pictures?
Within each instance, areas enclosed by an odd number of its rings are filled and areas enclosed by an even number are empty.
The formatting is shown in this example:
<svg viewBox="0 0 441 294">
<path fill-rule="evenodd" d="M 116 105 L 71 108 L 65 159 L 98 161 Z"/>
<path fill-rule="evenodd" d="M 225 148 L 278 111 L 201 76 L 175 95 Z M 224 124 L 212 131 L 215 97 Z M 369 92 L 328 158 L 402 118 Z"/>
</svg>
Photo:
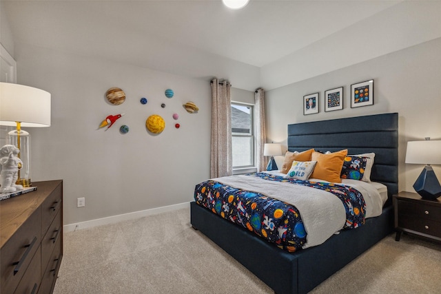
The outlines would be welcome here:
<svg viewBox="0 0 441 294">
<path fill-rule="evenodd" d="M 441 1 L 402 1 L 367 19 L 361 17 L 358 23 L 263 66 L 261 86 L 283 87 L 440 38 L 440 14 Z"/>
</svg>

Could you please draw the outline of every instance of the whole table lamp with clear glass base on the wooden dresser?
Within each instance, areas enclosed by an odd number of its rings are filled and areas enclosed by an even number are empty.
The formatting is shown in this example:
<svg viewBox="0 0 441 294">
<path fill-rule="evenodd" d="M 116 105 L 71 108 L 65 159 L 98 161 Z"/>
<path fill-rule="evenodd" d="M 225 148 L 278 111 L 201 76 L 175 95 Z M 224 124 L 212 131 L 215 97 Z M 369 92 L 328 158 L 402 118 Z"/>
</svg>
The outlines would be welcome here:
<svg viewBox="0 0 441 294">
<path fill-rule="evenodd" d="M 50 93 L 25 85 L 0 83 L 0 125 L 16 126 L 6 142 L 20 149 L 17 185 L 30 187 L 30 134 L 21 127 L 50 126 Z M 1 146 L 0 146 L 1 147 Z"/>
</svg>

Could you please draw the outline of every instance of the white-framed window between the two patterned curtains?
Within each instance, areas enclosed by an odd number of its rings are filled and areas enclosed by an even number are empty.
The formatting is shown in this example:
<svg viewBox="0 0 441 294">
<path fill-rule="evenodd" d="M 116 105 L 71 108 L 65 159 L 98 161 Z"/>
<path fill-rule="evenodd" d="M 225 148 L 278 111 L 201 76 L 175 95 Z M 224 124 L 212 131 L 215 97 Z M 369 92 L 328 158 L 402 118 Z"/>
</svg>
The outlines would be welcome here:
<svg viewBox="0 0 441 294">
<path fill-rule="evenodd" d="M 232 103 L 233 169 L 255 166 L 252 105 Z"/>
</svg>

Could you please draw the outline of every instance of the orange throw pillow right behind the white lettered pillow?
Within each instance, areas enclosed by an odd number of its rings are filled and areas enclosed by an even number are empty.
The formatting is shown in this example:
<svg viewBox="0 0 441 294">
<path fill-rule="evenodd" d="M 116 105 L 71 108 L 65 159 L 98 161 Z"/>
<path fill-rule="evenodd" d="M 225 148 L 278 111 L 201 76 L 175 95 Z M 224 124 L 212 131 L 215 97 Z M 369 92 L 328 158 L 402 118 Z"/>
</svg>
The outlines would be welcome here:
<svg viewBox="0 0 441 294">
<path fill-rule="evenodd" d="M 316 161 L 317 163 L 310 178 L 318 178 L 320 180 L 327 180 L 328 182 L 342 182 L 340 174 L 346 156 L 347 149 L 330 154 L 313 152 L 311 161 Z"/>
</svg>

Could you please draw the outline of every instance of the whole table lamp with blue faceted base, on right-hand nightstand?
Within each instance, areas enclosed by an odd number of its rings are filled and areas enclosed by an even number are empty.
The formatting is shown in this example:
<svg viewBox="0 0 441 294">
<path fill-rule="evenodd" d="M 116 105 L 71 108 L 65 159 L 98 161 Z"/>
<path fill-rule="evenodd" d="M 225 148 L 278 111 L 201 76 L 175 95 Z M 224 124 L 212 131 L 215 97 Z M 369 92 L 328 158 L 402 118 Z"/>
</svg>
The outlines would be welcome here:
<svg viewBox="0 0 441 294">
<path fill-rule="evenodd" d="M 441 185 L 431 165 L 441 165 L 441 140 L 407 142 L 406 163 L 425 164 L 413 189 L 423 199 L 435 200 L 441 196 Z"/>
</svg>

